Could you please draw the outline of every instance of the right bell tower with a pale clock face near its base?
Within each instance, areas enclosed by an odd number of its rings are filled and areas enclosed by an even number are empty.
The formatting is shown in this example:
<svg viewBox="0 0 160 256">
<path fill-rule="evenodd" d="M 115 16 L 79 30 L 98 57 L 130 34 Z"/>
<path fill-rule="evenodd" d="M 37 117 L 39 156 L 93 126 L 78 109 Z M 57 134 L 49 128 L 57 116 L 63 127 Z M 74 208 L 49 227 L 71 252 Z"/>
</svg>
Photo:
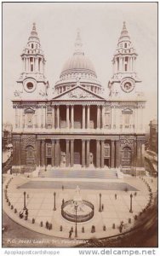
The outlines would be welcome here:
<svg viewBox="0 0 160 256">
<path fill-rule="evenodd" d="M 117 49 L 113 55 L 113 76 L 108 87 L 110 96 L 130 96 L 136 91 L 136 85 L 140 79 L 136 73 L 137 53 L 132 45 L 126 23 L 123 22 L 123 30 L 118 39 Z"/>
</svg>

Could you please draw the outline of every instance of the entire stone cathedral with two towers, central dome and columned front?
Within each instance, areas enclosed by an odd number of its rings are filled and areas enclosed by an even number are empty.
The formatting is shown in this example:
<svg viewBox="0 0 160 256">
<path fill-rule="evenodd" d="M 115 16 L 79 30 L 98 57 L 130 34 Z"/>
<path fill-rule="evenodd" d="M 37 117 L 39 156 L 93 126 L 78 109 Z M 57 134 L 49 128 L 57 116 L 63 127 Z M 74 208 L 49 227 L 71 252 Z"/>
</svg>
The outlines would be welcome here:
<svg viewBox="0 0 160 256">
<path fill-rule="evenodd" d="M 124 22 L 105 93 L 92 62 L 84 55 L 78 31 L 74 53 L 51 95 L 33 24 L 21 54 L 23 72 L 14 90 L 13 172 L 60 168 L 144 172 L 146 101 L 136 59 Z"/>
</svg>

